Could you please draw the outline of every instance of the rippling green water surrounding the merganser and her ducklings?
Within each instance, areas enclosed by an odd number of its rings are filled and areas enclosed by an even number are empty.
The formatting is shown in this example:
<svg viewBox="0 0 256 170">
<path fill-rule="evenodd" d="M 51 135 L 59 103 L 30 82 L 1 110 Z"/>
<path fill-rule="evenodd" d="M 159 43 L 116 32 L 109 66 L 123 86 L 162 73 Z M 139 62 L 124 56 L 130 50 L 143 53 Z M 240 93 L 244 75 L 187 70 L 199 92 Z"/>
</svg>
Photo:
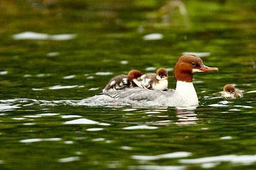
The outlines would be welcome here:
<svg viewBox="0 0 256 170">
<path fill-rule="evenodd" d="M 55 2 L 0 2 L 1 169 L 256 168 L 254 1 L 184 1 L 170 20 L 164 1 Z M 194 76 L 199 107 L 81 102 L 186 52 L 220 70 Z M 219 97 L 226 83 L 244 97 Z"/>
</svg>

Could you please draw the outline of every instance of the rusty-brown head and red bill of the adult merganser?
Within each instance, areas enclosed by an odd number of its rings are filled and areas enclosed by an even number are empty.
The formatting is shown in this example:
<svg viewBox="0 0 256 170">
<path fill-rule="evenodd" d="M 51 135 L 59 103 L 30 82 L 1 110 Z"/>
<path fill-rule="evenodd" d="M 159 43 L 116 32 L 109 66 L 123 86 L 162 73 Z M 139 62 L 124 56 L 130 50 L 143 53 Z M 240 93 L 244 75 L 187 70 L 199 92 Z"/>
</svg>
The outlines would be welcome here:
<svg viewBox="0 0 256 170">
<path fill-rule="evenodd" d="M 207 67 L 201 58 L 192 54 L 181 56 L 175 67 L 174 76 L 176 80 L 183 82 L 192 82 L 193 73 L 204 71 L 218 71 L 216 67 Z"/>
</svg>

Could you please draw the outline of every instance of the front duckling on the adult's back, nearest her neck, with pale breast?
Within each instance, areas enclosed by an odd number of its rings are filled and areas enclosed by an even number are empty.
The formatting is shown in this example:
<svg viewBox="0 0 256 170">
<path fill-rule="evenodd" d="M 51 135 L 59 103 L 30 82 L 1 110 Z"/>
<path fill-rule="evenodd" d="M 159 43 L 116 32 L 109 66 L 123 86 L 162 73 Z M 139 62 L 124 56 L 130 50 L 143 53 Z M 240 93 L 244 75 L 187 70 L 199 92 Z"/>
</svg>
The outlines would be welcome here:
<svg viewBox="0 0 256 170">
<path fill-rule="evenodd" d="M 168 71 L 164 68 L 160 68 L 156 73 L 144 74 L 140 78 L 134 79 L 133 82 L 141 88 L 150 90 L 167 90 Z"/>
</svg>

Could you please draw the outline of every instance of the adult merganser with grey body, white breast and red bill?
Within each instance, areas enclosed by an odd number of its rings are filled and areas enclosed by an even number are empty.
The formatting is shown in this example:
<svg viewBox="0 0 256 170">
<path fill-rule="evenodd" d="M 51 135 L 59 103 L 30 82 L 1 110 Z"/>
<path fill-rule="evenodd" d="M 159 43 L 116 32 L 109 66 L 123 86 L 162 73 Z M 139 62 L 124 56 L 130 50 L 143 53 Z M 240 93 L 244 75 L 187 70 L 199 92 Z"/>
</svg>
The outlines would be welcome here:
<svg viewBox="0 0 256 170">
<path fill-rule="evenodd" d="M 181 56 L 175 67 L 174 76 L 177 80 L 176 90 L 146 90 L 144 88 L 128 88 L 126 90 L 105 92 L 85 99 L 92 104 L 132 104 L 142 106 L 188 107 L 198 105 L 196 90 L 193 86 L 193 73 L 218 71 L 207 67 L 201 58 L 193 55 Z"/>
</svg>

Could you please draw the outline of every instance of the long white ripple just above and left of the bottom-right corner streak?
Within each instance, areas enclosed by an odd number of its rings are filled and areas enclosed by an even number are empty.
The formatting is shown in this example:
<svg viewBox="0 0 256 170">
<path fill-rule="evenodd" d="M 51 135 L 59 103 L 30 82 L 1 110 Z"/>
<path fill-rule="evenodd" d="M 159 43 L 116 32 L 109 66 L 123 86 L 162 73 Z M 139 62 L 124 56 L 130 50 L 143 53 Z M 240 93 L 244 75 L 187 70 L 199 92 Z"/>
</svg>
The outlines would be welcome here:
<svg viewBox="0 0 256 170">
<path fill-rule="evenodd" d="M 158 159 L 171 159 L 171 158 L 184 158 L 191 156 L 191 152 L 172 152 L 169 154 L 162 154 L 162 155 L 133 155 L 131 156 L 132 159 L 137 160 L 158 160 Z"/>
</svg>

